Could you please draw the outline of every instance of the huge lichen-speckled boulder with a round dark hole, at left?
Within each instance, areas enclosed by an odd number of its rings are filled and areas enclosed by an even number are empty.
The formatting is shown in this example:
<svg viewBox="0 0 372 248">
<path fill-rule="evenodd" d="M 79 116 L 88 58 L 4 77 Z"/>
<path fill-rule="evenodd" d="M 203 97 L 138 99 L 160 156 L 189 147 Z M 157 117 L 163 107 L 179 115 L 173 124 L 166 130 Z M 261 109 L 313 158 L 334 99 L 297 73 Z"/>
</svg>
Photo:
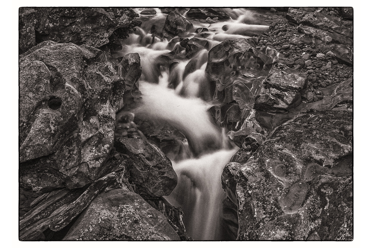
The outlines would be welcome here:
<svg viewBox="0 0 372 248">
<path fill-rule="evenodd" d="M 125 89 L 100 50 L 47 41 L 20 65 L 20 182 L 47 192 L 97 179 L 113 145 Z"/>
</svg>

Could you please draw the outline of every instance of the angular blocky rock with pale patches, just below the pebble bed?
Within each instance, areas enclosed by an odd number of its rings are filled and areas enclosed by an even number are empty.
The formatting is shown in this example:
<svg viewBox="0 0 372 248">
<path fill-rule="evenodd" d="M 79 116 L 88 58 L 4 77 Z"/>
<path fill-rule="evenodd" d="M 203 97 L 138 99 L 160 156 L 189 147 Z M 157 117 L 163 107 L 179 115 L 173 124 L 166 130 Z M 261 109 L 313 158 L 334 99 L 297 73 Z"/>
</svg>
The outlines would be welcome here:
<svg viewBox="0 0 372 248">
<path fill-rule="evenodd" d="M 255 109 L 278 113 L 296 107 L 301 103 L 301 91 L 306 86 L 305 75 L 283 64 L 275 64 L 263 81 Z"/>
</svg>

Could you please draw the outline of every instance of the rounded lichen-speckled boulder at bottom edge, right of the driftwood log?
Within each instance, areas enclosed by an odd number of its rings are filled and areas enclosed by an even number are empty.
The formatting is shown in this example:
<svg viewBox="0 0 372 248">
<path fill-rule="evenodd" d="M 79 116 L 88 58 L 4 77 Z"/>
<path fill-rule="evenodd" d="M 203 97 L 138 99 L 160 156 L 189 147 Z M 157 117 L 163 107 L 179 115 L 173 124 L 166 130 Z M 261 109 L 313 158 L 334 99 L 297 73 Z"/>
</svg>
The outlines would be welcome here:
<svg viewBox="0 0 372 248">
<path fill-rule="evenodd" d="M 97 196 L 63 240 L 180 240 L 160 212 L 128 189 Z"/>
</svg>

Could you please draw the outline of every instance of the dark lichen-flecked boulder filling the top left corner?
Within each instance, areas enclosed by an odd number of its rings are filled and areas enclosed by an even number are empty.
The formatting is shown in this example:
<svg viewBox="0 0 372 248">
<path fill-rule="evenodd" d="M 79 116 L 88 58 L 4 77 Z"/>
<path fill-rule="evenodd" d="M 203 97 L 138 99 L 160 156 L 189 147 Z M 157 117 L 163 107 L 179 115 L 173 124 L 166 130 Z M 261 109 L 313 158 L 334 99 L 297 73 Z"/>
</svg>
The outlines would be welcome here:
<svg viewBox="0 0 372 248">
<path fill-rule="evenodd" d="M 129 8 L 22 7 L 19 12 L 21 53 L 34 46 L 35 39 L 36 43 L 72 42 L 100 47 L 109 43 L 116 29 L 130 26 L 138 17 Z"/>
</svg>

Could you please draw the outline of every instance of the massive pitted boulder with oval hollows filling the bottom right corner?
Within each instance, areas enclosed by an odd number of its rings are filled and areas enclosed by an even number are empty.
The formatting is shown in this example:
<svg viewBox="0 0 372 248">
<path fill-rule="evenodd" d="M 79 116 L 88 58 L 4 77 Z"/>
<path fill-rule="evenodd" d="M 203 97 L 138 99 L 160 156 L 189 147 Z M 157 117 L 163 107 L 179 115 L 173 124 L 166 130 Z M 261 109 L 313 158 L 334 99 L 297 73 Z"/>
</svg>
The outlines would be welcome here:
<svg viewBox="0 0 372 248">
<path fill-rule="evenodd" d="M 238 239 L 305 240 L 316 232 L 321 240 L 351 240 L 352 160 L 349 110 L 279 126 L 248 162 L 224 170 Z"/>
</svg>

